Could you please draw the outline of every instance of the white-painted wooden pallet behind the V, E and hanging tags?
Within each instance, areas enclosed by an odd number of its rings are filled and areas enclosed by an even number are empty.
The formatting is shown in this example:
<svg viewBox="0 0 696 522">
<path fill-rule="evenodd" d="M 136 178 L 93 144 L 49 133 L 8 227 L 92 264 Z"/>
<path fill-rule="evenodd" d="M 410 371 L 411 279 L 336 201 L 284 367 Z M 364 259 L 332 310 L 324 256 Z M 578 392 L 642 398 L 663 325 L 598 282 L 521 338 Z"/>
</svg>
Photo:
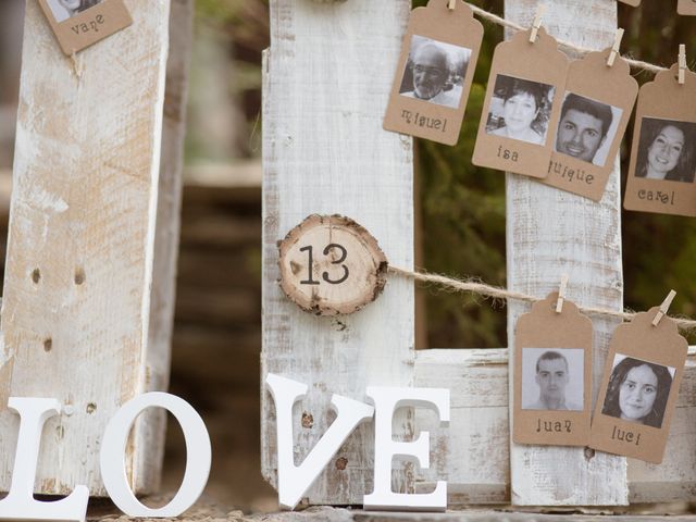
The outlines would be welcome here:
<svg viewBox="0 0 696 522">
<path fill-rule="evenodd" d="M 544 25 L 558 38 L 601 49 L 613 41 L 614 0 L 549 0 Z M 529 26 L 538 0 L 506 0 L 508 20 Z M 341 213 L 364 225 L 395 265 L 412 263 L 411 139 L 382 129 L 410 2 L 271 2 L 264 67 L 264 237 L 262 378 L 275 372 L 310 385 L 295 412 L 296 457 L 326 430 L 332 393 L 364 399 L 368 384 L 448 386 L 452 422 L 406 411 L 397 436 L 433 433 L 430 470 L 399 465 L 395 490 L 449 482 L 450 506 L 610 506 L 696 497 L 696 370 L 689 360 L 663 464 L 585 450 L 511 445 L 508 350 L 413 351 L 410 285 L 390 278 L 377 302 L 324 320 L 289 303 L 277 284 L 276 241 L 311 213 Z M 465 122 L 471 125 L 471 122 Z M 462 159 L 468 161 L 468 159 Z M 507 177 L 508 286 L 545 297 L 570 275 L 569 298 L 621 310 L 619 163 L 599 203 L 523 176 Z M 529 308 L 509 303 L 508 332 Z M 594 382 L 616 321 L 593 318 Z M 513 346 L 510 347 L 512 350 Z M 596 386 L 597 384 L 595 384 Z M 594 397 L 597 389 L 595 387 Z M 274 482 L 275 428 L 262 389 L 262 469 Z M 302 413 L 313 427 L 302 428 Z M 371 492 L 371 428 L 362 427 L 308 493 L 306 504 L 361 505 Z M 430 489 L 428 489 L 430 488 Z M 522 519 L 520 519 L 522 520 Z"/>
</svg>

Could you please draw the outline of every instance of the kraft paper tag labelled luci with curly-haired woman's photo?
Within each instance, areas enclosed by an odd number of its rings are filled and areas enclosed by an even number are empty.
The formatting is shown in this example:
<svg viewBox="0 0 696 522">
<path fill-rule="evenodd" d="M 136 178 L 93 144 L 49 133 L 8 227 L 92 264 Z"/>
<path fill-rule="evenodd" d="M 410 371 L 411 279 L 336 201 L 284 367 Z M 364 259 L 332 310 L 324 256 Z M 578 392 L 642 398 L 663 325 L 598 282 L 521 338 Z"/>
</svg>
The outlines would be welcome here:
<svg viewBox="0 0 696 522">
<path fill-rule="evenodd" d="M 688 344 L 659 307 L 617 327 L 605 364 L 589 446 L 659 464 L 684 372 Z"/>
</svg>

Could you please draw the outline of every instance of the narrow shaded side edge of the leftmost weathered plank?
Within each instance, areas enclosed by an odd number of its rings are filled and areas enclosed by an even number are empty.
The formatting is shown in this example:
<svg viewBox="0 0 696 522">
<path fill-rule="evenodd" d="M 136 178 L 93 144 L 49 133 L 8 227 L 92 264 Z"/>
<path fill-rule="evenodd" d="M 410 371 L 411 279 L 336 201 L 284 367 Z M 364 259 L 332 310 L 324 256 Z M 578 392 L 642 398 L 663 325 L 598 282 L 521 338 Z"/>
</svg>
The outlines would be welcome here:
<svg viewBox="0 0 696 522">
<path fill-rule="evenodd" d="M 165 390 L 170 381 L 192 22 L 194 0 L 171 0 L 170 48 L 144 391 Z M 148 450 L 137 460 L 138 470 L 134 475 L 136 490 L 156 493 L 159 489 L 165 434 L 164 410 L 150 408 L 138 419 L 135 432 L 136 446 L 147 447 Z"/>
</svg>

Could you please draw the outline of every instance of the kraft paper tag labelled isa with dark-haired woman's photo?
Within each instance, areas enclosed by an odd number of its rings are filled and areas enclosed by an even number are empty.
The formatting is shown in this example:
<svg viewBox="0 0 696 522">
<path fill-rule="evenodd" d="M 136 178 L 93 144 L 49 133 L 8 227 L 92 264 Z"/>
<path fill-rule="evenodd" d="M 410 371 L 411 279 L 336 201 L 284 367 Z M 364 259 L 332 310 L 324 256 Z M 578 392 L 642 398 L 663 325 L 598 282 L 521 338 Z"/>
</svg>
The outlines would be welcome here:
<svg viewBox="0 0 696 522">
<path fill-rule="evenodd" d="M 569 61 L 539 28 L 496 47 L 473 163 L 538 178 L 548 175 Z"/>
</svg>

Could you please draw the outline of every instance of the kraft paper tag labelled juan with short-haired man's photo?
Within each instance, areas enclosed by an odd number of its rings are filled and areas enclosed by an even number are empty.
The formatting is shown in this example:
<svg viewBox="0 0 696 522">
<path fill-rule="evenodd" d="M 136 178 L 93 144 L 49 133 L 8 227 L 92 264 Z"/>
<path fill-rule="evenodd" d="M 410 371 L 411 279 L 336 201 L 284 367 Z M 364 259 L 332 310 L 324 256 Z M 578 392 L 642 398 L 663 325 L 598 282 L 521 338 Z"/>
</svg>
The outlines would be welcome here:
<svg viewBox="0 0 696 522">
<path fill-rule="evenodd" d="M 518 320 L 514 335 L 512 439 L 586 446 L 592 391 L 592 321 L 558 293 Z"/>
</svg>

